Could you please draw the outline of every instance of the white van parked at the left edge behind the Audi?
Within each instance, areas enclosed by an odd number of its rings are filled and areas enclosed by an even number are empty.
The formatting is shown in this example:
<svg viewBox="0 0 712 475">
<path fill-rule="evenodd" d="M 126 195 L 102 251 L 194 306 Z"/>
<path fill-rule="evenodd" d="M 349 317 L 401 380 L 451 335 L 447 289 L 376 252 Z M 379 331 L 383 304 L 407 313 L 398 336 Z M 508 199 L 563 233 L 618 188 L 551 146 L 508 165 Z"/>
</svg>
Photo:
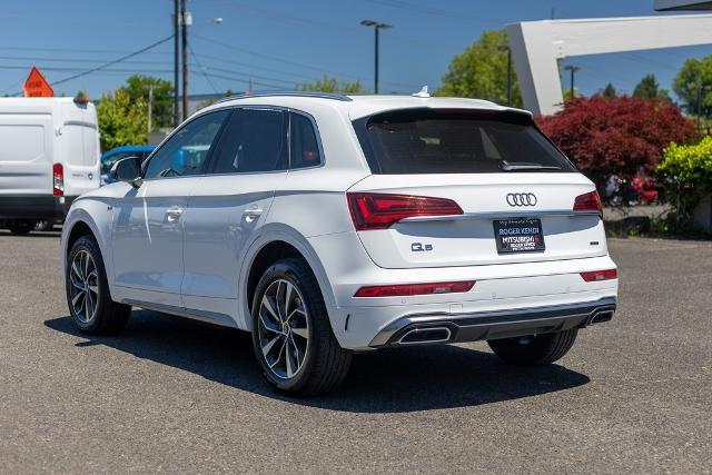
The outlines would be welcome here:
<svg viewBox="0 0 712 475">
<path fill-rule="evenodd" d="M 79 195 L 99 188 L 99 127 L 91 102 L 0 98 L 0 226 L 27 234 L 63 220 Z"/>
</svg>

